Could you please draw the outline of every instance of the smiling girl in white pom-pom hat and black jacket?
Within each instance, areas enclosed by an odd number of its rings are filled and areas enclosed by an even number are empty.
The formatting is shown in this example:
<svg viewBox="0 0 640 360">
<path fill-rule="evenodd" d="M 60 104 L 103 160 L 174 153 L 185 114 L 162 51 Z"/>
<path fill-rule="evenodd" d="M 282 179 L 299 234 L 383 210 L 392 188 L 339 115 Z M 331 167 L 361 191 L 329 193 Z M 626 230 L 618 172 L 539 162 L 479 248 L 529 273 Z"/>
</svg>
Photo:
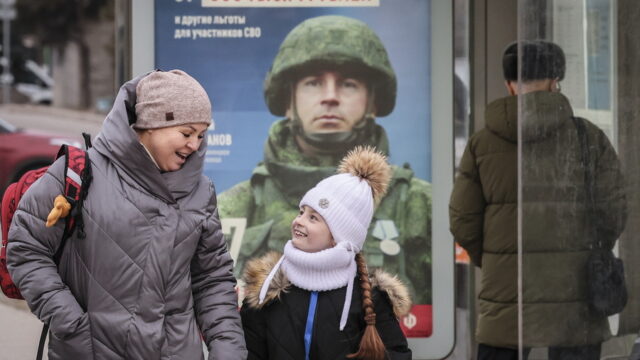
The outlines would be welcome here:
<svg viewBox="0 0 640 360">
<path fill-rule="evenodd" d="M 398 323 L 408 291 L 382 271 L 370 277 L 360 253 L 391 170 L 384 155 L 358 147 L 338 172 L 300 201 L 284 254 L 245 268 L 249 359 L 411 359 Z"/>
</svg>

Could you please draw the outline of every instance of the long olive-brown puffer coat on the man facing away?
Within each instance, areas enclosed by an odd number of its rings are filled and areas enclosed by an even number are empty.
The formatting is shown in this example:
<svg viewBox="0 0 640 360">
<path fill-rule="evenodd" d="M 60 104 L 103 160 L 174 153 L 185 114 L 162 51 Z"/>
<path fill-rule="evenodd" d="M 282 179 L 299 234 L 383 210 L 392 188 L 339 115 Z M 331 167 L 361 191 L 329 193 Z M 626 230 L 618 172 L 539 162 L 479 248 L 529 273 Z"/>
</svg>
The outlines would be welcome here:
<svg viewBox="0 0 640 360">
<path fill-rule="evenodd" d="M 486 128 L 467 144 L 450 203 L 451 232 L 482 267 L 477 341 L 510 348 L 518 346 L 517 101 L 487 107 Z M 585 263 L 596 233 L 611 248 L 624 228 L 618 158 L 606 135 L 579 119 L 594 166 L 595 221 L 587 217 L 585 166 L 567 98 L 529 93 L 520 113 L 524 346 L 600 343 L 609 328 L 589 311 Z"/>
</svg>

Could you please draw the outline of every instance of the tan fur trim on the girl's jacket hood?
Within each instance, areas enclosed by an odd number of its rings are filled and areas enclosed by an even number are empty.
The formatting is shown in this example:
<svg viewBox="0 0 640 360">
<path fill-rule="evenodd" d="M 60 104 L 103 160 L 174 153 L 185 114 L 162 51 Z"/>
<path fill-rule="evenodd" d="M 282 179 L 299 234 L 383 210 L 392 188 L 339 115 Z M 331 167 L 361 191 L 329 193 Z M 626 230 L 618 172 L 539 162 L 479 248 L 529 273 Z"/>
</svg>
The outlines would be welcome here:
<svg viewBox="0 0 640 360">
<path fill-rule="evenodd" d="M 267 291 L 264 302 L 260 304 L 259 296 L 262 284 L 264 284 L 269 272 L 278 260 L 280 260 L 281 256 L 282 254 L 272 251 L 260 258 L 247 262 L 242 279 L 246 284 L 245 301 L 251 308 L 260 309 L 265 304 L 279 299 L 280 295 L 286 293 L 291 286 L 289 279 L 287 279 L 282 269 L 280 269 L 269 284 L 269 290 Z M 393 276 L 379 269 L 375 270 L 371 276 L 371 286 L 374 288 L 377 287 L 378 290 L 387 293 L 393 306 L 393 312 L 397 317 L 407 315 L 411 310 L 412 302 L 409 290 L 397 276 Z"/>
</svg>

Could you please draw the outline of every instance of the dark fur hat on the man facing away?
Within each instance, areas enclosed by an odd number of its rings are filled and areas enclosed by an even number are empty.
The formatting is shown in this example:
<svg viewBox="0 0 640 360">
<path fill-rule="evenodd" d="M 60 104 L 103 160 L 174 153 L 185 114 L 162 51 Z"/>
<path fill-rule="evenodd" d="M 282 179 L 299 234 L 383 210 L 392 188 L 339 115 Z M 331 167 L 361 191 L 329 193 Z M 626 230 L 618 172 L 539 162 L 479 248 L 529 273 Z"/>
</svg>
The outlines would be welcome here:
<svg viewBox="0 0 640 360">
<path fill-rule="evenodd" d="M 562 48 L 551 41 L 521 41 L 522 81 L 564 79 L 566 61 Z M 502 57 L 504 79 L 518 81 L 518 42 L 509 44 Z"/>
</svg>

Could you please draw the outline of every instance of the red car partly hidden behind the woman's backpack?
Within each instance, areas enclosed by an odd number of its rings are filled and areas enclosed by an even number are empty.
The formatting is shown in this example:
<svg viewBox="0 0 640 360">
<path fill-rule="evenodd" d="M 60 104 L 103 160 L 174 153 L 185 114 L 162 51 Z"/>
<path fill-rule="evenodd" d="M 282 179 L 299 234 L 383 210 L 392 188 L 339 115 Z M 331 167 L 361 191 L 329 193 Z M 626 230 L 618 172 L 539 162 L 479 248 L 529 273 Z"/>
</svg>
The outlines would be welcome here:
<svg viewBox="0 0 640 360">
<path fill-rule="evenodd" d="M 77 139 L 18 129 L 0 119 L 0 198 L 26 171 L 50 165 L 63 144 L 82 146 Z"/>
</svg>

